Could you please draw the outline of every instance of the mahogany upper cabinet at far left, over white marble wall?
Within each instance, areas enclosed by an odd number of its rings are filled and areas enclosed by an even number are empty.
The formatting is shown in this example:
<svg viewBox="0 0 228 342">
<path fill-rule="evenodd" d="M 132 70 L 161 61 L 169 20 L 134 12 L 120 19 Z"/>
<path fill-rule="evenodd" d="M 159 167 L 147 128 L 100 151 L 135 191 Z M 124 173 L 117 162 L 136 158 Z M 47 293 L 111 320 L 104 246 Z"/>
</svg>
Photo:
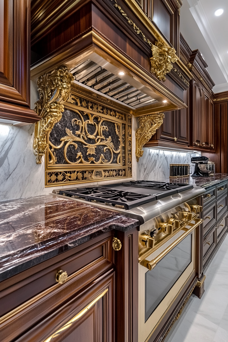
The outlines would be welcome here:
<svg viewBox="0 0 228 342">
<path fill-rule="evenodd" d="M 30 109 L 30 0 L 0 1 L 0 118 L 40 119 Z"/>
</svg>

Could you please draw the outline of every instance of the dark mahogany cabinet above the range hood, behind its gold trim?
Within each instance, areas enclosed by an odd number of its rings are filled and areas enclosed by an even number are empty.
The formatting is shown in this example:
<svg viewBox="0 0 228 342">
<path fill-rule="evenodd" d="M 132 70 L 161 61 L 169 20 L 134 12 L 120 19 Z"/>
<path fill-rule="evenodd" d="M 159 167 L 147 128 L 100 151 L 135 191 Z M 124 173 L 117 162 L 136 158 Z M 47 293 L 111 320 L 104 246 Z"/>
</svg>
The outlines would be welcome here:
<svg viewBox="0 0 228 342">
<path fill-rule="evenodd" d="M 158 31 L 169 41 L 179 56 L 179 14 L 182 1 L 176 0 L 135 0 L 140 4 Z"/>
</svg>

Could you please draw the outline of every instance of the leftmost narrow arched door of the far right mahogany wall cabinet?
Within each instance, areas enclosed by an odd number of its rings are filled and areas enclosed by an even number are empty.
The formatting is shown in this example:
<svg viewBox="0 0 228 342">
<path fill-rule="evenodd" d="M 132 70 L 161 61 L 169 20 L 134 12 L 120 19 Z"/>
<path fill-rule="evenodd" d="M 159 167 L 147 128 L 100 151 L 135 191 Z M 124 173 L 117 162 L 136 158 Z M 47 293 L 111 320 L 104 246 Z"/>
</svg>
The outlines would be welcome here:
<svg viewBox="0 0 228 342">
<path fill-rule="evenodd" d="M 193 83 L 193 146 L 202 146 L 202 90 Z"/>
</svg>

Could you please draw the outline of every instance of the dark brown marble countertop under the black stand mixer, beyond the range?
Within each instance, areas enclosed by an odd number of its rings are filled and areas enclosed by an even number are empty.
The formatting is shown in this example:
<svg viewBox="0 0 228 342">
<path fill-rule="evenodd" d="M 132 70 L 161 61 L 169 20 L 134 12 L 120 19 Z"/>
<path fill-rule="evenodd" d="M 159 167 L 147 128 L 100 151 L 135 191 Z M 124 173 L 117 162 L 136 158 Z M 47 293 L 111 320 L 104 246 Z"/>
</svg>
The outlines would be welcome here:
<svg viewBox="0 0 228 342">
<path fill-rule="evenodd" d="M 222 183 L 228 180 L 227 173 L 215 173 L 211 177 L 164 177 L 156 179 L 156 181 L 161 182 L 171 182 L 171 183 L 185 183 L 192 184 L 195 186 L 200 186 L 203 188 L 208 188 L 214 186 L 215 184 Z"/>
</svg>

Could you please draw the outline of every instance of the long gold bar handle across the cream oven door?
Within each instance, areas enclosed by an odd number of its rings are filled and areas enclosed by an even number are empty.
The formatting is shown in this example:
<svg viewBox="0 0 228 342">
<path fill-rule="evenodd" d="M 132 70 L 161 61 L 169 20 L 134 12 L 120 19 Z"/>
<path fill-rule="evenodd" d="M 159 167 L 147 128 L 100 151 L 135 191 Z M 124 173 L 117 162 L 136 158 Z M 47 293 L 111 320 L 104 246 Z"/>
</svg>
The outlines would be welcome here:
<svg viewBox="0 0 228 342">
<path fill-rule="evenodd" d="M 178 237 L 178 239 L 176 241 L 174 241 L 168 248 L 166 248 L 165 251 L 160 253 L 155 259 L 153 259 L 151 261 L 144 259 L 140 262 L 140 265 L 148 268 L 151 271 L 151 269 L 153 269 L 157 265 L 157 263 L 165 257 L 166 254 L 168 254 L 174 247 L 176 247 L 182 240 L 184 240 L 184 238 L 188 234 L 190 234 L 196 227 L 198 227 L 203 222 L 203 220 L 202 219 L 195 219 L 195 222 L 196 223 L 193 224 L 191 226 L 191 228 L 187 229 L 186 232 L 182 236 Z"/>
</svg>

